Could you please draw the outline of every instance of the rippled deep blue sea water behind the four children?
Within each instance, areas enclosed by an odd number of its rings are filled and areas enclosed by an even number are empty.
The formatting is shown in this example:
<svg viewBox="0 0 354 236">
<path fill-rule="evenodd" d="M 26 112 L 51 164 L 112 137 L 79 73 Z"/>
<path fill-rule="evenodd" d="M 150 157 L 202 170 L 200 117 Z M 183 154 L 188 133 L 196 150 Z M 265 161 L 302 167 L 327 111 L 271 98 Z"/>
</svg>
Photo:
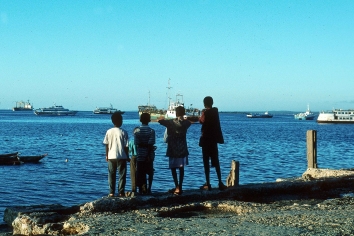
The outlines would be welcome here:
<svg viewBox="0 0 354 236">
<path fill-rule="evenodd" d="M 134 127 L 140 125 L 138 114 L 126 112 L 123 119 L 122 128 L 131 137 Z M 224 180 L 232 160 L 240 162 L 240 184 L 300 176 L 307 168 L 307 130 L 317 130 L 320 168 L 354 167 L 354 125 L 298 121 L 291 114 L 249 119 L 245 114 L 220 113 L 220 120 L 225 139 L 225 144 L 219 145 Z M 156 130 L 158 147 L 153 192 L 166 192 L 173 182 L 165 157 L 164 127 L 158 123 L 150 126 Z M 0 153 L 48 153 L 48 156 L 39 164 L 0 166 L 0 218 L 9 206 L 72 206 L 106 196 L 107 163 L 102 141 L 111 127 L 109 115 L 92 112 L 78 112 L 73 117 L 40 117 L 32 112 L 1 110 Z M 193 124 L 188 131 L 190 163 L 185 170 L 184 189 L 196 189 L 205 181 L 198 146 L 200 127 Z M 126 191 L 129 191 L 129 169 L 127 176 Z M 214 169 L 211 180 L 217 186 Z"/>
</svg>

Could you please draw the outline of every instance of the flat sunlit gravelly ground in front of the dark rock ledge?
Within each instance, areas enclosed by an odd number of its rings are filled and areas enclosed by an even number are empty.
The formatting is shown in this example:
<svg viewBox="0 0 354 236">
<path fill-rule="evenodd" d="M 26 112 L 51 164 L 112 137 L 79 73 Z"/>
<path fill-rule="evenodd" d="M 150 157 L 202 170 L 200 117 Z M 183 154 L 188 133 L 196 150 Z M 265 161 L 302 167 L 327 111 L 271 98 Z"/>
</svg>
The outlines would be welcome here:
<svg viewBox="0 0 354 236">
<path fill-rule="evenodd" d="M 190 210 L 161 217 L 159 212 L 164 209 L 151 208 L 114 214 L 82 214 L 73 217 L 71 222 L 85 225 L 82 232 L 87 235 L 354 234 L 353 197 L 278 201 L 270 204 L 233 201 L 211 201 L 204 204 L 220 205 L 222 210 Z M 169 210 L 173 211 L 173 208 Z"/>
</svg>

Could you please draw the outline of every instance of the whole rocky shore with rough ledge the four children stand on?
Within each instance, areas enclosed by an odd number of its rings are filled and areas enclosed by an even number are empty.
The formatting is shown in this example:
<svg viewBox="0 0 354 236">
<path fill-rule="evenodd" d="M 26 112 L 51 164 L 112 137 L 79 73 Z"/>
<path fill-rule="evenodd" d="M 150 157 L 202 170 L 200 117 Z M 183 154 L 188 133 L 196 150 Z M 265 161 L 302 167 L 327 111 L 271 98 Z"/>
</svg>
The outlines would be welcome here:
<svg viewBox="0 0 354 236">
<path fill-rule="evenodd" d="M 183 195 L 9 207 L 0 235 L 354 235 L 354 170 Z"/>
</svg>

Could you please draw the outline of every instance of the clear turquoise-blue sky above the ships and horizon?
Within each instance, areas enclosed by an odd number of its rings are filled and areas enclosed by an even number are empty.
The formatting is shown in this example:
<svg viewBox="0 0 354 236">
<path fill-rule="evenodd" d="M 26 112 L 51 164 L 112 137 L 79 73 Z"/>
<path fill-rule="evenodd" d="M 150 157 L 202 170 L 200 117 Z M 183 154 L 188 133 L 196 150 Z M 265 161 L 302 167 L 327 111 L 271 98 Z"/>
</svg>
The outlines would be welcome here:
<svg viewBox="0 0 354 236">
<path fill-rule="evenodd" d="M 354 109 L 354 1 L 0 0 L 0 109 Z M 168 87 L 170 87 L 168 89 Z"/>
</svg>

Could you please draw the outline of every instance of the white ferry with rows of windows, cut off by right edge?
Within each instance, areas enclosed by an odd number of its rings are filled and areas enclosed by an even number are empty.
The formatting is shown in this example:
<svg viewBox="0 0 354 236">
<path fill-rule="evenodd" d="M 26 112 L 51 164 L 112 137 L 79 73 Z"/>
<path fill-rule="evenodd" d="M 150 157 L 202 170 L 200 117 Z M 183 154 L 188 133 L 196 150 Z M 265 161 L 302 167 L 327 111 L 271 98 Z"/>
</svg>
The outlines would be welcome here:
<svg viewBox="0 0 354 236">
<path fill-rule="evenodd" d="M 354 124 L 353 109 L 334 109 L 320 112 L 317 123 Z"/>
</svg>

